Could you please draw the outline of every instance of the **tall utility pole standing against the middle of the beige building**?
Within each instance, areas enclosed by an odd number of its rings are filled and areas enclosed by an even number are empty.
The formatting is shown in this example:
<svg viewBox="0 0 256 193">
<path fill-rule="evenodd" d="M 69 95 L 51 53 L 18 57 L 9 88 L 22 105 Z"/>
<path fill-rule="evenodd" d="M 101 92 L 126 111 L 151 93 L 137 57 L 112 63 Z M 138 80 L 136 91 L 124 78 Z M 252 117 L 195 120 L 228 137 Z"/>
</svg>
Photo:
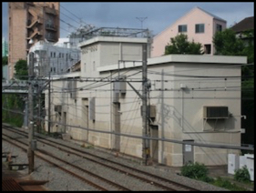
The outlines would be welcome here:
<svg viewBox="0 0 256 193">
<path fill-rule="evenodd" d="M 148 62 L 147 62 L 147 44 L 142 45 L 142 136 L 148 136 Z M 143 138 L 142 158 L 144 164 L 148 165 L 149 139 Z"/>
</svg>

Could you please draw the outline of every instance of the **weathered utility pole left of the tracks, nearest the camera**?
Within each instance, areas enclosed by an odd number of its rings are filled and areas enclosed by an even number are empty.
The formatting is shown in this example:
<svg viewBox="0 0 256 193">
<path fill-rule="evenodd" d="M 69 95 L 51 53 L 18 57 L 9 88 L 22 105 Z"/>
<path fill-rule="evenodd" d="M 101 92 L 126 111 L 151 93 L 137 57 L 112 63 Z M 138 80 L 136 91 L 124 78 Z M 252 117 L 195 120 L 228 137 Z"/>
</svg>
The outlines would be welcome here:
<svg viewBox="0 0 256 193">
<path fill-rule="evenodd" d="M 34 100 L 33 100 L 33 81 L 34 81 L 34 53 L 29 54 L 29 70 L 28 70 L 28 174 L 34 171 L 34 149 L 32 147 L 34 137 Z"/>
</svg>

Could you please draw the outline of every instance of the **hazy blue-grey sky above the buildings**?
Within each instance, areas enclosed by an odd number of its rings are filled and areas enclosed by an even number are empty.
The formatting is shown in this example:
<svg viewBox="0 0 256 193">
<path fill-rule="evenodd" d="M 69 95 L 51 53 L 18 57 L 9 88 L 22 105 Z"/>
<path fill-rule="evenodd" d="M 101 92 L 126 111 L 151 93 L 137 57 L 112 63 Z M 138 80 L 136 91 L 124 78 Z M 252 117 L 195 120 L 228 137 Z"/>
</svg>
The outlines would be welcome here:
<svg viewBox="0 0 256 193">
<path fill-rule="evenodd" d="M 5 38 L 8 34 L 8 3 L 2 2 L 2 33 Z M 227 21 L 227 26 L 234 25 L 248 16 L 254 16 L 253 2 L 234 3 L 202 3 L 202 2 L 148 2 L 148 3 L 88 3 L 60 2 L 60 19 L 69 25 L 78 27 L 82 20 L 84 24 L 97 27 L 124 27 L 141 28 L 138 18 L 145 18 L 143 28 L 152 30 L 153 35 L 159 34 L 179 17 L 187 14 L 189 10 L 199 6 L 213 15 Z M 138 17 L 138 18 L 137 18 Z M 80 18 L 80 19 L 78 19 Z M 67 37 L 68 32 L 74 31 L 73 26 L 60 22 L 60 37 Z"/>
</svg>

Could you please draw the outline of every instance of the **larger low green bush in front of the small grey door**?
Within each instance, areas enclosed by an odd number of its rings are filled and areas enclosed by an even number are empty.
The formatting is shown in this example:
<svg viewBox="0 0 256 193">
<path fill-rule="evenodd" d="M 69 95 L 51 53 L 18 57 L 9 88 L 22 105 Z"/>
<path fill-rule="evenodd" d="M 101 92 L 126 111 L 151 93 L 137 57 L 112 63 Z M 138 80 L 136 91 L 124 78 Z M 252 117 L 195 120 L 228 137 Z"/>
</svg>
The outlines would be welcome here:
<svg viewBox="0 0 256 193">
<path fill-rule="evenodd" d="M 188 178 L 199 179 L 201 181 L 210 182 L 213 179 L 208 177 L 209 170 L 198 162 L 191 163 L 189 162 L 181 168 L 181 175 Z"/>
</svg>

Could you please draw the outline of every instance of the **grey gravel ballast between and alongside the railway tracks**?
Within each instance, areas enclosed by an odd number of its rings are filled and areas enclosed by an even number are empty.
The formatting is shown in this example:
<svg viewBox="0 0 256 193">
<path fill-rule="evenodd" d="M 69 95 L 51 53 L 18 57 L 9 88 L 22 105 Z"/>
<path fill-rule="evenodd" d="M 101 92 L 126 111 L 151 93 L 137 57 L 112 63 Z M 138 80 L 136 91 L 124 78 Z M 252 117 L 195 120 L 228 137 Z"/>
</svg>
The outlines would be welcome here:
<svg viewBox="0 0 256 193">
<path fill-rule="evenodd" d="M 12 132 L 7 132 L 3 130 L 3 133 L 6 133 L 9 135 Z M 12 134 L 12 135 L 17 136 L 15 134 Z M 21 138 L 21 137 L 19 137 L 18 140 L 27 141 L 26 138 Z M 120 155 L 117 157 L 116 154 L 114 154 L 111 150 L 108 150 L 108 149 L 97 148 L 97 147 L 85 148 L 85 147 L 81 147 L 77 143 L 74 143 L 74 141 L 71 142 L 71 141 L 65 141 L 62 139 L 52 138 L 51 140 L 56 140 L 58 143 L 65 144 L 71 147 L 76 147 L 85 152 L 89 152 L 91 154 L 95 154 L 97 156 L 110 159 L 117 163 L 126 164 L 127 166 L 132 168 L 138 168 L 140 170 L 150 172 L 152 174 L 158 175 L 161 178 L 167 178 L 167 179 L 177 181 L 178 183 L 187 185 L 191 188 L 200 189 L 201 191 L 227 190 L 224 188 L 218 188 L 218 187 L 212 186 L 205 182 L 179 176 L 175 173 L 177 171 L 177 169 L 175 168 L 159 167 L 159 166 L 143 166 L 139 158 L 122 157 Z M 67 153 L 62 152 L 57 148 L 53 150 L 52 147 L 48 147 L 46 145 L 43 147 L 42 143 L 38 141 L 36 145 L 39 149 L 43 148 L 46 151 L 52 151 L 52 152 L 54 151 L 54 154 L 56 155 L 56 157 L 64 158 L 66 161 L 76 164 L 81 168 L 87 168 L 89 171 L 94 172 L 95 174 L 101 177 L 104 177 L 104 178 L 108 177 L 109 180 L 112 180 L 113 182 L 118 182 L 118 184 L 124 187 L 130 188 L 132 190 L 160 190 L 160 188 L 150 186 L 150 184 L 147 184 L 146 182 L 142 182 L 136 178 L 128 177 L 123 173 L 115 172 L 109 168 L 98 167 L 96 163 L 92 163 L 91 161 L 88 161 L 87 159 L 84 159 L 82 157 L 77 157 L 73 155 L 67 156 Z M 14 159 L 15 163 L 21 163 L 21 164 L 27 163 L 26 152 L 21 151 L 20 148 L 15 147 L 14 145 L 9 144 L 8 142 L 5 142 L 5 140 L 2 140 L 2 151 L 10 151 L 12 152 L 12 155 L 18 156 Z M 28 170 L 26 168 L 19 172 L 27 174 Z M 36 180 L 49 180 L 49 182 L 46 183 L 45 186 L 50 190 L 65 190 L 65 191 L 97 190 L 96 188 L 93 188 L 90 185 L 87 185 L 81 180 L 72 177 L 66 172 L 60 170 L 59 168 L 56 168 L 52 165 L 47 164 L 45 161 L 37 157 L 35 158 L 35 171 L 31 174 L 31 177 Z"/>
</svg>

